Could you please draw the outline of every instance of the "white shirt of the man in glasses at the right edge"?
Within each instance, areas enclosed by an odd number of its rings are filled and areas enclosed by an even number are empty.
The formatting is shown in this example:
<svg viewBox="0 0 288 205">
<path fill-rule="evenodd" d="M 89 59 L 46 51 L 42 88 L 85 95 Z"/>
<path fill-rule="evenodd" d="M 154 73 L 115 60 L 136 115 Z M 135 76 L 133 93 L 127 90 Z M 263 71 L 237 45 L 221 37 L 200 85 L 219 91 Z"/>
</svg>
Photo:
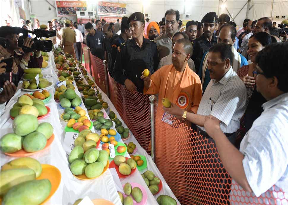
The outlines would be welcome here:
<svg viewBox="0 0 288 205">
<path fill-rule="evenodd" d="M 253 193 L 245 192 L 233 181 L 231 204 L 241 203 L 237 199 L 239 190 L 242 196 L 249 197 L 249 204 L 261 200 L 266 201 L 263 204 L 288 202 L 288 93 L 265 102 L 262 107 L 264 111 L 240 145 L 244 172 Z"/>
</svg>

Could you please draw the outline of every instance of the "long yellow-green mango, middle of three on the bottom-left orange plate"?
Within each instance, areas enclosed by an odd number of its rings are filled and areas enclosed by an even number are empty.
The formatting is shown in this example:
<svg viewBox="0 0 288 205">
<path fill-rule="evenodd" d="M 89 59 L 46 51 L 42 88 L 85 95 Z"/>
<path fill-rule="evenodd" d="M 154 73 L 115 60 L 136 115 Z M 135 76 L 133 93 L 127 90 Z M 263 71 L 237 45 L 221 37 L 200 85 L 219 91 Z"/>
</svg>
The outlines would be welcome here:
<svg viewBox="0 0 288 205">
<path fill-rule="evenodd" d="M 36 174 L 33 169 L 8 169 L 0 172 L 0 196 L 3 196 L 13 186 L 33 180 Z"/>
</svg>

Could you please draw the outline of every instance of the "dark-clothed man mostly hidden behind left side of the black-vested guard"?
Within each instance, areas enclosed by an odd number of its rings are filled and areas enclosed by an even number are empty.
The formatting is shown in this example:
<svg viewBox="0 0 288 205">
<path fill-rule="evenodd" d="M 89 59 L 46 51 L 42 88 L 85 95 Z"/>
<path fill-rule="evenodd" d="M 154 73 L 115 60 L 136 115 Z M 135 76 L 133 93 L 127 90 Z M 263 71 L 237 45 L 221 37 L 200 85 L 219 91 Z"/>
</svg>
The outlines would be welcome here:
<svg viewBox="0 0 288 205">
<path fill-rule="evenodd" d="M 126 16 L 122 17 L 121 26 L 120 26 L 121 34 L 119 35 L 118 38 L 114 39 L 112 42 L 110 56 L 109 56 L 109 65 L 108 65 L 108 70 L 111 76 L 113 76 L 112 72 L 113 72 L 116 56 L 118 53 L 117 48 L 120 45 L 125 45 L 124 43 L 128 39 L 131 38 L 131 33 L 129 30 L 129 24 L 127 24 L 127 19 L 128 17 Z"/>
</svg>

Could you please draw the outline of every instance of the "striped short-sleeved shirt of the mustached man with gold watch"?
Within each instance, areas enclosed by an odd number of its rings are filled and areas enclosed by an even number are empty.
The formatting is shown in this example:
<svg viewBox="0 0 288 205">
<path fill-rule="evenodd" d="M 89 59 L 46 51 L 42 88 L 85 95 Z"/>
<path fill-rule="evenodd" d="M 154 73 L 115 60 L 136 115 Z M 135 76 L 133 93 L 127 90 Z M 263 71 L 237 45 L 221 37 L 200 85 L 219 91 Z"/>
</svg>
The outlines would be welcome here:
<svg viewBox="0 0 288 205">
<path fill-rule="evenodd" d="M 199 104 L 198 115 L 213 115 L 224 133 L 236 132 L 246 109 L 247 91 L 232 66 L 219 82 L 210 80 Z M 205 131 L 204 127 L 199 127 Z"/>
</svg>

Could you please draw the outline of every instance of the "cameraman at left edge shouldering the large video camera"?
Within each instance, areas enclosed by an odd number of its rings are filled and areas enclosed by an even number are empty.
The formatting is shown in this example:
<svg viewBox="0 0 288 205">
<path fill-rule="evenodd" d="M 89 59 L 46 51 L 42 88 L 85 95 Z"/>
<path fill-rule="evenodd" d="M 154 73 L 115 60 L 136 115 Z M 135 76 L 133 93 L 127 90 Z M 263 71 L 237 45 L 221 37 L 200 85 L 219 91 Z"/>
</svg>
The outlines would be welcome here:
<svg viewBox="0 0 288 205">
<path fill-rule="evenodd" d="M 9 46 L 6 48 L 8 51 L 8 55 L 14 56 L 13 61 L 18 66 L 18 81 L 20 77 L 23 75 L 24 71 L 27 67 L 29 68 L 41 68 L 43 57 L 41 56 L 41 51 L 27 52 L 23 53 L 19 49 L 18 46 L 18 33 L 15 31 L 15 28 L 9 26 L 1 26 L 0 27 L 0 37 L 6 38 L 9 40 Z M 27 37 L 23 41 L 23 46 L 30 47 L 34 42 L 32 38 Z M 8 56 L 8 57 L 10 57 Z M 8 58 L 7 56 L 4 58 Z"/>
</svg>

